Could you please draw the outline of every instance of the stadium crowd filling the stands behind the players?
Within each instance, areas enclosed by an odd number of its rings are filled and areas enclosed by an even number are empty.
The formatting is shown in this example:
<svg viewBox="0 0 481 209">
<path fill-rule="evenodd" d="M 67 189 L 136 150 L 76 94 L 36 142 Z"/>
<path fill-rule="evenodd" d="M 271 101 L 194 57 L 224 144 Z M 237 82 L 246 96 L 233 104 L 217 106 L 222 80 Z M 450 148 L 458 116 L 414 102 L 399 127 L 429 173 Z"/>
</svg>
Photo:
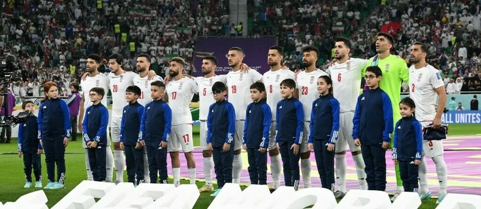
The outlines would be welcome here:
<svg viewBox="0 0 481 209">
<path fill-rule="evenodd" d="M 318 66 L 325 68 L 337 36 L 350 37 L 353 57 L 371 57 L 372 37 L 382 30 L 396 38 L 396 53 L 406 62 L 412 43 L 428 44 L 428 62 L 442 70 L 449 94 L 481 90 L 481 14 L 475 0 L 248 0 L 247 8 L 253 20 L 248 35 L 277 34 L 284 62 L 295 72 L 301 71 L 306 46 L 319 49 Z M 17 103 L 41 94 L 38 87 L 48 80 L 69 95 L 89 53 L 104 58 L 104 72 L 110 54 L 124 55 L 123 67 L 134 69 L 133 58 L 141 52 L 153 57 L 158 75 L 167 75 L 168 60 L 176 55 L 192 72 L 197 37 L 235 36 L 236 29 L 229 24 L 227 0 L 8 0 L 1 15 L 0 48 L 11 47 L 23 66 L 22 80 L 11 85 Z"/>
</svg>

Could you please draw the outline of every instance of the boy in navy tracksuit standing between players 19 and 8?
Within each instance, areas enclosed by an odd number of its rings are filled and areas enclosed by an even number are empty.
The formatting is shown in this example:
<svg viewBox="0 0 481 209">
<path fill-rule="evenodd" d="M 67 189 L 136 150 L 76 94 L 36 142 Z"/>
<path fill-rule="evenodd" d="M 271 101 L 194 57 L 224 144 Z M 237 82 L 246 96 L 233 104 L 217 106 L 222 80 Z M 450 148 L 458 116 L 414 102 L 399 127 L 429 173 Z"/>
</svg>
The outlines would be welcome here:
<svg viewBox="0 0 481 209">
<path fill-rule="evenodd" d="M 267 146 L 271 128 L 271 108 L 266 103 L 265 86 L 261 82 L 251 85 L 253 103 L 247 106 L 244 125 L 244 149 L 249 160 L 251 184 L 267 184 Z"/>
</svg>

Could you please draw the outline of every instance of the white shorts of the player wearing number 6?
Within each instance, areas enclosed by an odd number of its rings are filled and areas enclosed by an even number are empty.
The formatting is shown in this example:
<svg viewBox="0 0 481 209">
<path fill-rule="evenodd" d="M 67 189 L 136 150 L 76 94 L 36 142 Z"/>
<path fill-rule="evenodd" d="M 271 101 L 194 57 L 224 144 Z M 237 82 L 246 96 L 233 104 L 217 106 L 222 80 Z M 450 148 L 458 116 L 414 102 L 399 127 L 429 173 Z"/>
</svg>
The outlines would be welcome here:
<svg viewBox="0 0 481 209">
<path fill-rule="evenodd" d="M 339 114 L 339 135 L 336 141 L 336 153 L 346 151 L 349 146 L 349 151 L 360 151 L 361 147 L 354 144 L 352 139 L 352 119 L 354 118 L 354 112 L 341 112 Z"/>
</svg>

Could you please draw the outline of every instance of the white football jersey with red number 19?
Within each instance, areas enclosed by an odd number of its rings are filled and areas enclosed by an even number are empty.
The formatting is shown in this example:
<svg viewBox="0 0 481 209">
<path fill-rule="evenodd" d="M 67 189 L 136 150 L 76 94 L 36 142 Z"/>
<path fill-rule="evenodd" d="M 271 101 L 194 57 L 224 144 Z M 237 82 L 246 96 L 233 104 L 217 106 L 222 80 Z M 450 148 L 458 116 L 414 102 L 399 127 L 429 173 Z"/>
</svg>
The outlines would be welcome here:
<svg viewBox="0 0 481 209">
<path fill-rule="evenodd" d="M 239 70 L 227 73 L 227 90 L 229 103 L 234 106 L 235 119 L 245 120 L 247 105 L 252 103 L 251 85 L 262 79 L 262 75 L 254 69 L 247 73 Z"/>
</svg>

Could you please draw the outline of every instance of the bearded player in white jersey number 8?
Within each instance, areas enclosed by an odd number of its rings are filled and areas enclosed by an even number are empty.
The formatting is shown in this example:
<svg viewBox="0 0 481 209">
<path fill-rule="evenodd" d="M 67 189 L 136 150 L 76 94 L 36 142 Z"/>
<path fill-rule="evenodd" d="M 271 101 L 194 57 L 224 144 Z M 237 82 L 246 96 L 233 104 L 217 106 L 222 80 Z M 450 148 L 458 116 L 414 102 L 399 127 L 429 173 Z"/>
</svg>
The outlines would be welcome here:
<svg viewBox="0 0 481 209">
<path fill-rule="evenodd" d="M 267 63 L 271 66 L 271 69 L 264 73 L 262 80 L 266 87 L 267 104 L 272 107 L 272 123 L 271 130 L 269 131 L 269 156 L 271 159 L 271 173 L 272 173 L 272 187 L 274 189 L 279 188 L 281 185 L 281 155 L 279 149 L 276 146 L 276 111 L 274 108 L 277 103 L 283 100 L 281 96 L 281 82 L 287 78 L 295 79 L 294 72 L 290 70 L 282 70 L 281 62 L 283 59 L 283 49 L 280 46 L 272 46 L 267 54 Z M 294 95 L 297 95 L 297 90 L 294 90 Z M 310 103 L 312 104 L 312 102 Z M 302 144 L 303 138 L 300 138 L 299 144 Z"/>
</svg>

